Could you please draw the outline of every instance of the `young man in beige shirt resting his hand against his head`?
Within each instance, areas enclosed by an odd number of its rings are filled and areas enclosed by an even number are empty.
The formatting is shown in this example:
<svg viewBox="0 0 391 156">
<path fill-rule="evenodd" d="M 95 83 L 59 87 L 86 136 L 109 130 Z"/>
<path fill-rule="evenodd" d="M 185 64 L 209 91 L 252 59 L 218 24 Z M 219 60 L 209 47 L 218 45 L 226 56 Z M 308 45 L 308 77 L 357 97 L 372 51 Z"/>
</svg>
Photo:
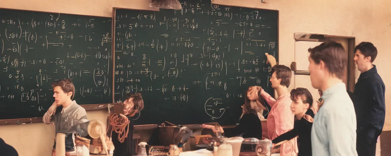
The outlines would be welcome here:
<svg viewBox="0 0 391 156">
<path fill-rule="evenodd" d="M 86 110 L 80 105 L 77 105 L 75 100 L 72 101 L 75 96 L 75 86 L 70 79 L 54 82 L 52 87 L 55 101 L 43 115 L 43 123 L 54 124 L 56 131 L 60 131 L 60 129 L 66 129 L 65 127 L 61 127 L 61 125 L 64 125 L 61 123 L 64 122 L 61 119 L 65 119 L 66 117 L 80 122 L 88 122 Z M 65 136 L 66 156 L 76 153 L 73 135 L 73 133 L 69 133 Z M 83 135 L 86 135 L 86 132 Z M 56 142 L 53 145 L 52 155 L 56 155 Z"/>
</svg>

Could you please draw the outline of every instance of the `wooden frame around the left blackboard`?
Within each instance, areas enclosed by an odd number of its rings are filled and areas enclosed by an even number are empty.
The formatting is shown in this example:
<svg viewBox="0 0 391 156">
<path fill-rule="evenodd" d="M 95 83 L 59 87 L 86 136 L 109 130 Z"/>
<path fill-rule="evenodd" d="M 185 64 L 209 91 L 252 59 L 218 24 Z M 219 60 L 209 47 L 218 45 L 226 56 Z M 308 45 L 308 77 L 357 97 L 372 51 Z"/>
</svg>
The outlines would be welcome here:
<svg viewBox="0 0 391 156">
<path fill-rule="evenodd" d="M 93 15 L 85 15 L 85 14 L 70 14 L 70 13 L 61 13 L 61 12 L 48 12 L 48 11 L 34 11 L 34 10 L 25 10 L 25 9 L 11 9 L 11 8 L 3 8 L 0 7 L 0 9 L 7 9 L 7 10 L 16 10 L 16 11 L 33 11 L 33 12 L 44 12 L 44 13 L 55 13 L 55 14 L 68 14 L 68 15 L 81 15 L 81 16 L 93 16 Z M 104 17 L 104 18 L 112 18 L 107 16 L 93 16 L 93 17 Z M 111 23 L 113 25 L 114 21 L 111 20 Z M 111 30 L 113 30 L 113 27 L 111 27 Z M 113 33 L 113 31 L 112 31 Z M 114 48 L 114 42 L 111 42 L 111 48 Z M 114 51 L 114 50 L 112 50 Z M 113 59 L 114 60 L 114 59 Z M 114 64 L 114 62 L 112 62 Z M 113 67 L 114 68 L 114 67 Z M 114 74 L 113 74 L 113 83 L 114 83 Z M 82 106 L 86 111 L 89 110 L 108 110 L 109 105 L 114 105 L 114 94 L 113 98 L 111 99 L 112 103 L 106 103 L 106 104 L 88 104 L 88 105 L 80 105 Z M 19 119 L 4 119 L 0 120 L 0 126 L 2 125 L 13 125 L 13 124 L 27 124 L 27 123 L 40 123 L 42 121 L 42 117 L 32 117 L 32 118 L 19 118 Z"/>
</svg>

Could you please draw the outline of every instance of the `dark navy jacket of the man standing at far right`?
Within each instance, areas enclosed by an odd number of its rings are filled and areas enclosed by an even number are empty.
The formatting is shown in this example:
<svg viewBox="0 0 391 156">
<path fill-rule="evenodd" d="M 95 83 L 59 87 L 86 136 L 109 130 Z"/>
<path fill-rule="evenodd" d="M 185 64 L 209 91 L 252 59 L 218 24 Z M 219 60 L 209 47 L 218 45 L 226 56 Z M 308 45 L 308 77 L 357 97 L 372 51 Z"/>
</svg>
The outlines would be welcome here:
<svg viewBox="0 0 391 156">
<path fill-rule="evenodd" d="M 361 73 L 352 98 L 357 117 L 357 135 L 377 138 L 386 117 L 386 86 L 376 66 Z"/>
</svg>

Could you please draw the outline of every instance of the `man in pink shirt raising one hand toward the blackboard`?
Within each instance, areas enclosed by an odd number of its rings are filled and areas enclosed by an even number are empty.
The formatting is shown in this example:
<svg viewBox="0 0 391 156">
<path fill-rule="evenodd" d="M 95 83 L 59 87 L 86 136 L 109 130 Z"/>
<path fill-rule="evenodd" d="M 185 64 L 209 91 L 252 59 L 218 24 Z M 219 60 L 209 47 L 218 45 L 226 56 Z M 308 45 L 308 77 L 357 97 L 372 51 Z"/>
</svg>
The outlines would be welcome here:
<svg viewBox="0 0 391 156">
<path fill-rule="evenodd" d="M 294 115 L 291 111 L 291 94 L 288 87 L 291 84 L 292 71 L 287 66 L 276 65 L 276 58 L 265 54 L 267 62 L 271 65 L 271 86 L 277 91 L 278 99 L 274 99 L 261 89 L 261 96 L 271 106 L 267 117 L 267 131 L 270 140 L 293 129 Z M 293 138 L 280 147 L 280 156 L 296 156 L 298 153 L 297 138 Z"/>
</svg>

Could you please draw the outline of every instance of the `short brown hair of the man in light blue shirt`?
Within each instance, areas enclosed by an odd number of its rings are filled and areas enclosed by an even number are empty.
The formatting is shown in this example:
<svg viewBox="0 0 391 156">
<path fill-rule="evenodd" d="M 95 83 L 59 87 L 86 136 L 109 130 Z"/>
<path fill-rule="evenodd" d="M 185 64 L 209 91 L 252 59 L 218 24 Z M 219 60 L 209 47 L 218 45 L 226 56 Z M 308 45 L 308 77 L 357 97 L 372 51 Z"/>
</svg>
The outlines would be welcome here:
<svg viewBox="0 0 391 156">
<path fill-rule="evenodd" d="M 343 79 L 348 64 L 348 54 L 342 44 L 329 41 L 309 48 L 308 52 L 316 64 L 319 64 L 320 61 L 325 62 L 330 74 Z"/>
</svg>

